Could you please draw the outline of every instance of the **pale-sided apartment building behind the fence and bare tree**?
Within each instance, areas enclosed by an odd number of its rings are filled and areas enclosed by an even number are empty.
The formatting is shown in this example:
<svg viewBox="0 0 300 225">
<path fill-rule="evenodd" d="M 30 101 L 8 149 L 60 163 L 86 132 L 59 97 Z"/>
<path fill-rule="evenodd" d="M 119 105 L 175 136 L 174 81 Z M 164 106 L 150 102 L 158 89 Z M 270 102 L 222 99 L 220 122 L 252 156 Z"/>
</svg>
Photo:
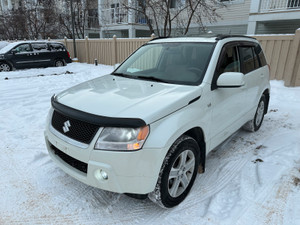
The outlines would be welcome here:
<svg viewBox="0 0 300 225">
<path fill-rule="evenodd" d="M 179 0 L 174 0 L 179 1 Z M 184 0 L 180 0 L 184 2 Z M 300 0 L 219 0 L 217 22 L 204 21 L 206 32 L 215 34 L 294 33 L 300 27 Z M 136 0 L 128 0 L 134 4 Z M 98 0 L 100 37 L 149 37 L 146 19 L 122 7 L 119 0 Z M 192 24 L 188 35 L 203 31 Z"/>
</svg>

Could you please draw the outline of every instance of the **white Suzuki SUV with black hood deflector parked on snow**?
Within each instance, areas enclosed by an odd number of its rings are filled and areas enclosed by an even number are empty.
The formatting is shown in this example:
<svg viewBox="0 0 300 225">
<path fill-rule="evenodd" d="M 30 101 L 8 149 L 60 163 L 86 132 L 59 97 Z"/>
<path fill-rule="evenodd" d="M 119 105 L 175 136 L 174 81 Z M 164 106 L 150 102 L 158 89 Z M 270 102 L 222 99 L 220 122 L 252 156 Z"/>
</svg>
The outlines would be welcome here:
<svg viewBox="0 0 300 225">
<path fill-rule="evenodd" d="M 212 149 L 242 126 L 259 129 L 269 98 L 255 39 L 155 39 L 112 74 L 54 95 L 46 144 L 74 178 L 170 208 Z"/>
</svg>

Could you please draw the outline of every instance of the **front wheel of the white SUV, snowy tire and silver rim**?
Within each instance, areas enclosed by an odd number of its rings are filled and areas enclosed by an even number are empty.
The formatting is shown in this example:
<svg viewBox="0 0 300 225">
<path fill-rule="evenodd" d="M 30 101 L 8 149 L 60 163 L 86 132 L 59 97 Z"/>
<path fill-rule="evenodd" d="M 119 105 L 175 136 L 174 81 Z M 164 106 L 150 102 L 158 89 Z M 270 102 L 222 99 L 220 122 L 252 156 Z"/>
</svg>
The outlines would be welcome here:
<svg viewBox="0 0 300 225">
<path fill-rule="evenodd" d="M 195 139 L 183 135 L 170 148 L 155 190 L 149 198 L 163 208 L 181 203 L 190 192 L 198 171 L 200 149 Z"/>
</svg>

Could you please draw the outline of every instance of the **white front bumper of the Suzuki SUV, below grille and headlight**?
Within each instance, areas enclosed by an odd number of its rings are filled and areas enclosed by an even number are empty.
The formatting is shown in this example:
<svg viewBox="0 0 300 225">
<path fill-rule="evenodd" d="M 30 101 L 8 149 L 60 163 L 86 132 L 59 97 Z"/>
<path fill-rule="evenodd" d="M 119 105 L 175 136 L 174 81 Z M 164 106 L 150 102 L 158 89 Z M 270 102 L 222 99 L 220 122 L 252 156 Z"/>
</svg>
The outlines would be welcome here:
<svg viewBox="0 0 300 225">
<path fill-rule="evenodd" d="M 99 131 L 100 132 L 100 131 Z M 147 194 L 154 190 L 164 157 L 163 149 L 142 149 L 133 152 L 94 150 L 99 132 L 87 148 L 79 148 L 58 138 L 47 127 L 46 145 L 53 161 L 75 179 L 103 190 L 117 193 Z M 87 172 L 70 165 L 66 159 L 55 154 L 62 152 L 75 162 L 87 166 Z M 78 161 L 77 161 L 78 160 Z M 108 179 L 102 179 L 105 171 Z"/>
</svg>

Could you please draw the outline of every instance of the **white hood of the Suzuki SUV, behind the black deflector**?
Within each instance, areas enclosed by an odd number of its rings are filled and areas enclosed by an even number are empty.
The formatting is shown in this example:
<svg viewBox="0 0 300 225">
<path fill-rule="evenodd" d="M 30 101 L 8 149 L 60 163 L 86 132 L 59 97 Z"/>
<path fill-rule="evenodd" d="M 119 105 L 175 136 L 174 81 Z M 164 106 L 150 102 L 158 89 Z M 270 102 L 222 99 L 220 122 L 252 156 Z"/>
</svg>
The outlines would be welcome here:
<svg viewBox="0 0 300 225">
<path fill-rule="evenodd" d="M 150 124 L 201 95 L 198 86 L 159 83 L 113 75 L 67 89 L 56 100 L 94 115 L 140 118 Z"/>
</svg>

